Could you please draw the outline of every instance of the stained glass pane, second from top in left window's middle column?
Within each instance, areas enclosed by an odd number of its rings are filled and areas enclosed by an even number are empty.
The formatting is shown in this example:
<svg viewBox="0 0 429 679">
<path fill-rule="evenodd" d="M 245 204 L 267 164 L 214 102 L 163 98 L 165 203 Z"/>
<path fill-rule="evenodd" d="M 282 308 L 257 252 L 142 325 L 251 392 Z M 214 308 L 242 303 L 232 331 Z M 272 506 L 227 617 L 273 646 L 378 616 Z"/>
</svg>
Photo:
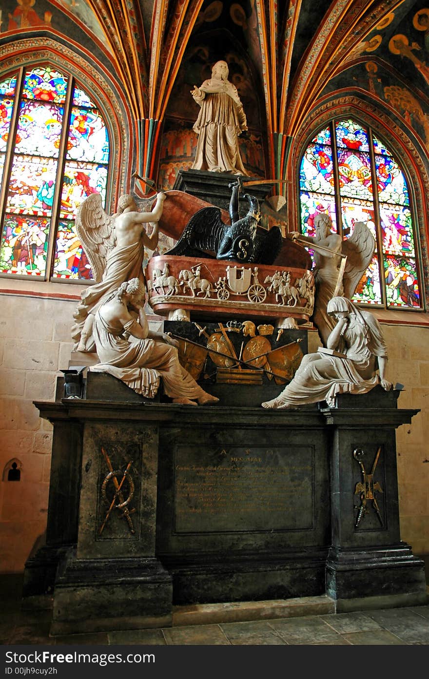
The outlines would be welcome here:
<svg viewBox="0 0 429 679">
<path fill-rule="evenodd" d="M 35 100 L 21 103 L 16 153 L 58 157 L 64 109 Z"/>
</svg>

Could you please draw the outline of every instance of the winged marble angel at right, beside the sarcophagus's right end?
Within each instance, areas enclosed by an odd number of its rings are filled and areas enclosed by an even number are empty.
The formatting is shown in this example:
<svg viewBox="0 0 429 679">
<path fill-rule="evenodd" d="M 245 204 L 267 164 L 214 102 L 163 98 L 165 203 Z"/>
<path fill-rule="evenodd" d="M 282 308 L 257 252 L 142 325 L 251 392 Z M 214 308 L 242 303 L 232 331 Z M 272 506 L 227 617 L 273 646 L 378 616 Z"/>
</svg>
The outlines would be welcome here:
<svg viewBox="0 0 429 679">
<path fill-rule="evenodd" d="M 288 234 L 293 240 L 310 246 L 314 251 L 314 280 L 316 299 L 312 320 L 324 346 L 335 327 L 335 318 L 327 313 L 332 297 L 352 299 L 358 282 L 368 268 L 375 251 L 375 239 L 362 221 L 354 223 L 352 235 L 343 240 L 332 231 L 329 215 L 321 213 L 314 218 L 316 236 Z"/>
</svg>

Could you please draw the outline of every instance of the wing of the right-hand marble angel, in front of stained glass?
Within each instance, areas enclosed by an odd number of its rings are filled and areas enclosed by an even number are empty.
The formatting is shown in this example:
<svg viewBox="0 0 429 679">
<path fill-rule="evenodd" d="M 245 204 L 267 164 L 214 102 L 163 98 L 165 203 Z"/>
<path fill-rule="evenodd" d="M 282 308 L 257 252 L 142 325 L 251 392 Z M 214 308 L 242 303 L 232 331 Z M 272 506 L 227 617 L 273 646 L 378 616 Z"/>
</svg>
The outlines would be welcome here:
<svg viewBox="0 0 429 679">
<path fill-rule="evenodd" d="M 364 222 L 356 221 L 352 235 L 343 241 L 342 251 L 347 256 L 343 276 L 344 296 L 352 299 L 375 251 L 374 236 Z"/>
</svg>

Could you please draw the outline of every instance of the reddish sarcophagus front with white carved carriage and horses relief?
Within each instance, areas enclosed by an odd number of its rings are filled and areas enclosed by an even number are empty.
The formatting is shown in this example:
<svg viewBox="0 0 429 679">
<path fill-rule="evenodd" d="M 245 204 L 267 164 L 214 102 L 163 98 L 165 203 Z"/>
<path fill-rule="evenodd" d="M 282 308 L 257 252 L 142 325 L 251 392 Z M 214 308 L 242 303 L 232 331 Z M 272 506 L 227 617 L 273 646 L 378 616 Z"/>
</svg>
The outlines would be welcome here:
<svg viewBox="0 0 429 679">
<path fill-rule="evenodd" d="M 236 265 L 219 259 L 160 255 L 146 270 L 149 305 L 161 316 L 177 309 L 307 321 L 314 305 L 309 270 Z"/>
</svg>

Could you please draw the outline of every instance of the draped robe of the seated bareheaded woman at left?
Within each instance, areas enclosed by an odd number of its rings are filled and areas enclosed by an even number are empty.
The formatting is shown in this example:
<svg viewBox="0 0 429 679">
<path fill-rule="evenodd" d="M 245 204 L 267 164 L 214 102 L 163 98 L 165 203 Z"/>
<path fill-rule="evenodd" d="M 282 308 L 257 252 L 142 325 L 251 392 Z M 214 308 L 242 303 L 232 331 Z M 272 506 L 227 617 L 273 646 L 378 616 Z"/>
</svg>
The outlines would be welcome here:
<svg viewBox="0 0 429 679">
<path fill-rule="evenodd" d="M 131 320 L 118 328 L 105 320 L 102 307 L 98 308 L 92 333 L 100 363 L 93 365 L 90 370 L 109 373 L 149 399 L 155 396 L 160 377 L 165 394 L 172 399 L 198 399 L 206 395 L 179 363 L 174 346 L 157 339 L 128 336 L 134 323 L 138 321 Z"/>
</svg>

